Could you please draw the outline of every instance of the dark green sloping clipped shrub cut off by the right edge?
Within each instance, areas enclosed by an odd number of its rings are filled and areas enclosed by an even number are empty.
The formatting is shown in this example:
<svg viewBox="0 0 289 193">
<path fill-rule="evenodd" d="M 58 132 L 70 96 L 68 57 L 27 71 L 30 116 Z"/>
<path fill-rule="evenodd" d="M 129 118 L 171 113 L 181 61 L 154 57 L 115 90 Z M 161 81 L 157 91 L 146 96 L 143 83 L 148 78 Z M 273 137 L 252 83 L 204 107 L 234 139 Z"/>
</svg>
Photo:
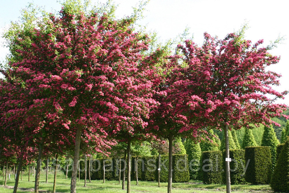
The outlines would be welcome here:
<svg viewBox="0 0 289 193">
<path fill-rule="evenodd" d="M 289 139 L 278 156 L 270 185 L 275 192 L 289 192 Z"/>
</svg>

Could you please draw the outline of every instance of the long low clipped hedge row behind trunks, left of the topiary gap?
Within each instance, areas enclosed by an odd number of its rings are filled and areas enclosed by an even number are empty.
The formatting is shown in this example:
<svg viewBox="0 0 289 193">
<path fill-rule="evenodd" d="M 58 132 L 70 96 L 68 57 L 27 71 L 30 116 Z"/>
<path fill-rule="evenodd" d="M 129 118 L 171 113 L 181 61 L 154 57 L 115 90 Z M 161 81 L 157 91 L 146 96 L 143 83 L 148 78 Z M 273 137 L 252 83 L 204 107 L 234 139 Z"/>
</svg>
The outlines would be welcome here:
<svg viewBox="0 0 289 193">
<path fill-rule="evenodd" d="M 136 161 L 138 160 L 138 161 Z M 138 171 L 138 180 L 141 181 L 158 181 L 158 156 L 149 157 L 131 157 L 131 180 L 136 179 L 136 162 Z M 88 168 L 87 162 L 87 168 Z M 160 181 L 168 181 L 168 155 L 161 155 L 161 170 Z M 84 179 L 84 161 L 80 163 L 80 178 Z M 118 180 L 119 179 L 119 159 L 106 159 L 105 161 L 105 179 Z M 113 166 L 113 168 L 112 168 Z M 103 159 L 91 161 L 90 179 L 103 179 Z M 121 162 L 121 170 L 124 169 L 124 162 Z M 88 170 L 88 169 L 87 169 Z M 127 170 L 125 170 L 127 173 Z M 77 171 L 77 176 L 79 171 Z M 71 171 L 68 172 L 68 177 L 71 177 Z M 173 182 L 187 182 L 189 181 L 189 165 L 187 155 L 175 154 L 173 155 Z M 88 173 L 87 173 L 88 179 Z M 121 175 L 122 179 L 122 175 Z"/>
</svg>

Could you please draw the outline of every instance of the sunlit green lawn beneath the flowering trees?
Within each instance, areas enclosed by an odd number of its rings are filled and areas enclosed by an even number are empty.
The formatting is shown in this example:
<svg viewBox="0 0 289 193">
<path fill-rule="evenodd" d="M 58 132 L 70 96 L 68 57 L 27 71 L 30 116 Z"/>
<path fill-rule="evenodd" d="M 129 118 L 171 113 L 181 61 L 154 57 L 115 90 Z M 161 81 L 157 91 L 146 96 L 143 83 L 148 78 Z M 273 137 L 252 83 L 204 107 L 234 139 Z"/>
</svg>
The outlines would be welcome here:
<svg viewBox="0 0 289 193">
<path fill-rule="evenodd" d="M 0 192 L 13 192 L 14 175 L 11 175 L 11 180 L 7 181 L 9 188 L 3 187 L 4 180 L 1 177 L 0 180 Z M 161 187 L 157 187 L 157 182 L 139 181 L 139 185 L 136 186 L 136 181 L 131 182 L 131 192 L 167 192 L 167 183 L 161 183 Z M 52 192 L 53 189 L 53 173 L 49 174 L 48 183 L 45 183 L 45 173 L 40 174 L 40 191 Z M 77 181 L 77 192 L 95 193 L 95 192 L 126 192 L 121 190 L 121 185 L 118 181 L 105 181 L 103 184 L 101 180 L 92 180 L 91 183 L 87 183 L 87 187 L 83 187 L 84 180 Z M 28 176 L 23 176 L 22 181 L 19 181 L 18 188 L 21 188 L 18 192 L 33 192 L 34 177 L 30 177 L 28 182 Z M 188 183 L 173 183 L 172 192 L 225 192 L 225 185 L 211 185 L 203 184 L 200 181 L 190 181 Z M 271 192 L 269 185 L 232 185 L 234 192 Z M 70 192 L 70 179 L 65 179 L 65 175 L 62 172 L 58 173 L 56 192 Z"/>
</svg>

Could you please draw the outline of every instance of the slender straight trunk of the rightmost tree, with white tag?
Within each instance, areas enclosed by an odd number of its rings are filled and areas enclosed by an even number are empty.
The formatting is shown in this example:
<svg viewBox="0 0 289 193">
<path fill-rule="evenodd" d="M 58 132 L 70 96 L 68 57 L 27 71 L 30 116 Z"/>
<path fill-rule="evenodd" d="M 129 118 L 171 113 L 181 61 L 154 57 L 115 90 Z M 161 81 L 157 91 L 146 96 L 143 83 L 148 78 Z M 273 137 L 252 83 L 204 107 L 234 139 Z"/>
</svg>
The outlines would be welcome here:
<svg viewBox="0 0 289 193">
<path fill-rule="evenodd" d="M 225 144 L 226 144 L 226 157 L 230 157 L 229 152 L 229 136 L 228 136 L 228 125 L 227 125 L 227 117 L 228 114 L 226 113 L 225 117 Z M 231 193 L 231 179 L 230 179 L 230 162 L 229 160 L 225 161 L 226 163 L 226 192 Z"/>
</svg>

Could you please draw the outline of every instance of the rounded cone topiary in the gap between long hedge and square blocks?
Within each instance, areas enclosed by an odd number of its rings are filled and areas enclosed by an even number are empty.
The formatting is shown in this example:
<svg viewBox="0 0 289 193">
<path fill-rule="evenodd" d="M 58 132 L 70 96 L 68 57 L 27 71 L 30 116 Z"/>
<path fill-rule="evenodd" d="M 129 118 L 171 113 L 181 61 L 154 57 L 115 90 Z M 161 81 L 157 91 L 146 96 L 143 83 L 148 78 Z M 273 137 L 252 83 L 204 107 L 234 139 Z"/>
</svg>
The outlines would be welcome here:
<svg viewBox="0 0 289 193">
<path fill-rule="evenodd" d="M 190 163 L 192 160 L 200 160 L 201 159 L 201 147 L 199 143 L 195 143 L 192 139 L 187 138 L 185 141 L 185 148 L 186 152 L 188 154 L 188 162 Z M 195 162 L 192 161 L 192 164 Z M 196 170 L 198 166 L 192 166 L 193 170 Z M 189 170 L 190 172 L 190 179 L 196 179 L 197 178 L 197 172 Z"/>
</svg>

